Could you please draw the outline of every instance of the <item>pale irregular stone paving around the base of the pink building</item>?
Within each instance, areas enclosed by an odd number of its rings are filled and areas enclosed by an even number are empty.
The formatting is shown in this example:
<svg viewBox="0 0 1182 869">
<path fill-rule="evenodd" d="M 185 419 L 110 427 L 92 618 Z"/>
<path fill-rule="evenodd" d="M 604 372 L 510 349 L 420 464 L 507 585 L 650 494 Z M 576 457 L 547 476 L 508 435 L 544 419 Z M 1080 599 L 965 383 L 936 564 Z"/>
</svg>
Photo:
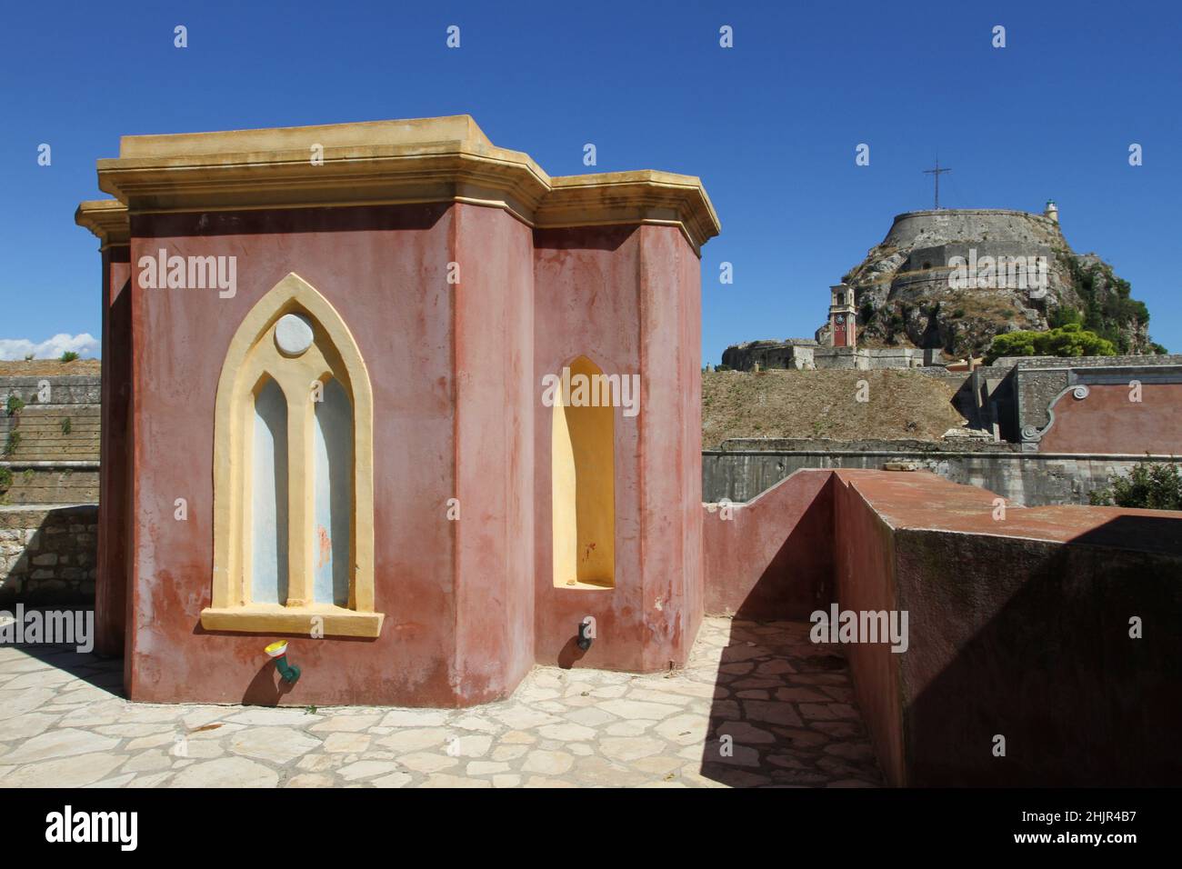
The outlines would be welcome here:
<svg viewBox="0 0 1182 869">
<path fill-rule="evenodd" d="M 683 670 L 539 667 L 444 711 L 129 703 L 122 661 L 0 646 L 0 787 L 881 785 L 808 627 L 708 618 Z"/>
</svg>

